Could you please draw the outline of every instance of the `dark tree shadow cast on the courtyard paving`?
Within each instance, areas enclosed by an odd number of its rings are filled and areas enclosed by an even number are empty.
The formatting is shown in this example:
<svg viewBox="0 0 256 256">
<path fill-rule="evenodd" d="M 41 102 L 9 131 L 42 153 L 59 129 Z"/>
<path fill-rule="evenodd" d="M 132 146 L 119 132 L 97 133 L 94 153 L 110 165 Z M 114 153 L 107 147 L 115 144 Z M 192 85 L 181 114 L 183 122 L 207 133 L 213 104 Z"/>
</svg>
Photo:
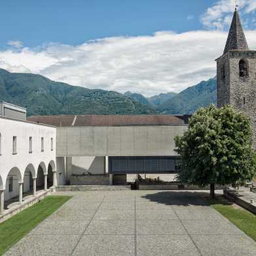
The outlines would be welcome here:
<svg viewBox="0 0 256 256">
<path fill-rule="evenodd" d="M 216 199 L 210 199 L 206 191 L 161 191 L 141 196 L 150 202 L 166 204 L 170 206 L 210 206 L 213 204 L 231 205 L 231 202 L 217 195 Z"/>
</svg>

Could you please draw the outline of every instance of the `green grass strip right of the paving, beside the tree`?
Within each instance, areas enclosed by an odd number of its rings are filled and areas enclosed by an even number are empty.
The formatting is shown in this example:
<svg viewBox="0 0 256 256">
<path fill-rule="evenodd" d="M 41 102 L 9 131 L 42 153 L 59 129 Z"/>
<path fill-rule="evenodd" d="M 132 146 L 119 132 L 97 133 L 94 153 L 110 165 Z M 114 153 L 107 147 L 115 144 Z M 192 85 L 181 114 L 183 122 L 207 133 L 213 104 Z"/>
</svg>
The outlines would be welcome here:
<svg viewBox="0 0 256 256">
<path fill-rule="evenodd" d="M 208 200 L 210 206 L 256 241 L 256 215 L 224 199 Z"/>
</svg>

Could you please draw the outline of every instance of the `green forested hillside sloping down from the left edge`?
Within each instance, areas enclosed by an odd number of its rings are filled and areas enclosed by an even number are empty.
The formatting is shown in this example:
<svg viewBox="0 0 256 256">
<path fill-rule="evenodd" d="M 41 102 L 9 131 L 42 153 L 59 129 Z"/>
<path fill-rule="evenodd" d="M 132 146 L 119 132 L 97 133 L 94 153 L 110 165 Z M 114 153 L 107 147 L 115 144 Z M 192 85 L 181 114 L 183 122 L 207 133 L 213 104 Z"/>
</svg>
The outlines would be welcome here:
<svg viewBox="0 0 256 256">
<path fill-rule="evenodd" d="M 0 69 L 0 101 L 27 108 L 28 116 L 53 114 L 157 114 L 116 91 L 54 82 L 38 74 Z"/>
</svg>

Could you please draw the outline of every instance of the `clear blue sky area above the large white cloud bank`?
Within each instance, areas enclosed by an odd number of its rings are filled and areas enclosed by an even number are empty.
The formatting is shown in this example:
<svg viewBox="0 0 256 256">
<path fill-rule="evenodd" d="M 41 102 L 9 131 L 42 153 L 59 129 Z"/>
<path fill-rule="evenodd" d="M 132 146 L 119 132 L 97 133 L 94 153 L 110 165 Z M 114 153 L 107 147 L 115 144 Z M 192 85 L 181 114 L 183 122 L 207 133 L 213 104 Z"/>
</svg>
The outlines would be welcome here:
<svg viewBox="0 0 256 256">
<path fill-rule="evenodd" d="M 199 16 L 214 1 L 202 0 L 2 0 L 0 45 L 20 40 L 80 44 L 91 39 L 178 33 L 202 28 Z M 192 18 L 192 15 L 195 18 Z M 191 17 L 190 20 L 187 17 Z"/>
</svg>

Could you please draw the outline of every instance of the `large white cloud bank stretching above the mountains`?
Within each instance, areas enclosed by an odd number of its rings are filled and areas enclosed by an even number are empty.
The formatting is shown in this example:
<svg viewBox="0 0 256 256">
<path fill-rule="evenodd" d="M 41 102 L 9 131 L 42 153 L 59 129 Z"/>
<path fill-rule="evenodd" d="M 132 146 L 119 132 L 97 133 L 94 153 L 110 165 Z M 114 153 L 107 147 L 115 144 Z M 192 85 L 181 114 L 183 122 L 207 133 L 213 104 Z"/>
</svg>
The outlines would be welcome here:
<svg viewBox="0 0 256 256">
<path fill-rule="evenodd" d="M 256 31 L 246 31 L 256 48 Z M 227 40 L 223 31 L 157 32 L 152 36 L 110 37 L 77 46 L 48 44 L 0 52 L 0 67 L 33 72 L 87 88 L 144 95 L 182 91 L 215 76 Z"/>
</svg>

